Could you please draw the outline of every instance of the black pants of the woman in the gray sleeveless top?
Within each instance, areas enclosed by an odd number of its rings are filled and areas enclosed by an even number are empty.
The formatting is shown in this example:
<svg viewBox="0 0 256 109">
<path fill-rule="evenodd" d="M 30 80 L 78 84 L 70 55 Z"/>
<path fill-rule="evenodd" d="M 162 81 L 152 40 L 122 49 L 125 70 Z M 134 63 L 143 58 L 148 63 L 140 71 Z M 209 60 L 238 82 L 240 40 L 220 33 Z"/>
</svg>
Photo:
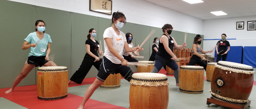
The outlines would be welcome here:
<svg viewBox="0 0 256 109">
<path fill-rule="evenodd" d="M 195 65 L 195 64 L 204 67 L 204 70 L 206 71 L 207 64 L 200 57 L 198 57 L 197 55 L 193 55 L 190 58 L 190 61 L 187 65 Z"/>
</svg>

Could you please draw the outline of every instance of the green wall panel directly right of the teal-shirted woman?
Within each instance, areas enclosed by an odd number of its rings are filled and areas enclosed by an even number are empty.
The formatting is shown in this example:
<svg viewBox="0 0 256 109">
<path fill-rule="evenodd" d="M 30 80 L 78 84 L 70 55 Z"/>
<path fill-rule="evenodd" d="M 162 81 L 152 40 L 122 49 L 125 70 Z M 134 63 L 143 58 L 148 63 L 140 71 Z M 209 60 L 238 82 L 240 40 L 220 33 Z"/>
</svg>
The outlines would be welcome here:
<svg viewBox="0 0 256 109">
<path fill-rule="evenodd" d="M 45 22 L 45 33 L 52 39 L 49 56 L 54 56 L 53 61 L 58 66 L 66 66 L 70 77 L 72 71 L 70 12 L 37 6 L 36 13 L 36 19 Z"/>
</svg>

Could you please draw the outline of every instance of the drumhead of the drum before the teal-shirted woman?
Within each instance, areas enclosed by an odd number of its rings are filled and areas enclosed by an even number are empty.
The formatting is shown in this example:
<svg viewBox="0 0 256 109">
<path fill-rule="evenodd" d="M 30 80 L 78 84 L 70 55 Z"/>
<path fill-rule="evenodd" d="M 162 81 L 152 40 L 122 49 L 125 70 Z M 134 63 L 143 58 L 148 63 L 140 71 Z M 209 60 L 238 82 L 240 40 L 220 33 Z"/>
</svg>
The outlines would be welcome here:
<svg viewBox="0 0 256 109">
<path fill-rule="evenodd" d="M 67 67 L 64 66 L 49 66 L 49 67 L 39 67 L 38 72 L 63 72 L 68 71 Z"/>
</svg>

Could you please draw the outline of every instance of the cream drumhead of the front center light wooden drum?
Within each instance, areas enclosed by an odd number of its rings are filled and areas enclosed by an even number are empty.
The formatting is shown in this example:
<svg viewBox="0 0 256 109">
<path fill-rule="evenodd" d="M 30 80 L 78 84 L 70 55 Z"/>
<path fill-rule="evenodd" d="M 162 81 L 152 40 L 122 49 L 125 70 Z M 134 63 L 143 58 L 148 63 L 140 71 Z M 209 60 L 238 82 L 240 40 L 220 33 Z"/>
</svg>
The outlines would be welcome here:
<svg viewBox="0 0 256 109">
<path fill-rule="evenodd" d="M 131 85 L 141 86 L 166 86 L 169 85 L 165 74 L 159 73 L 134 73 L 130 81 Z"/>
</svg>

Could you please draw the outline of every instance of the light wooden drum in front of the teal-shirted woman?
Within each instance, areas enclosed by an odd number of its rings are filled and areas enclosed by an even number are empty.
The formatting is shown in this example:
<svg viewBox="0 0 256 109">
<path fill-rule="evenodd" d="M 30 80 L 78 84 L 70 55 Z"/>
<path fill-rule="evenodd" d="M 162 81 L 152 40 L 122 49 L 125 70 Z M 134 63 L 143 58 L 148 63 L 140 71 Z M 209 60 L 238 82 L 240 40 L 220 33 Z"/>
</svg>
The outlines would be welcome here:
<svg viewBox="0 0 256 109">
<path fill-rule="evenodd" d="M 62 66 L 37 69 L 37 98 L 59 100 L 68 96 L 68 68 Z"/>
</svg>

